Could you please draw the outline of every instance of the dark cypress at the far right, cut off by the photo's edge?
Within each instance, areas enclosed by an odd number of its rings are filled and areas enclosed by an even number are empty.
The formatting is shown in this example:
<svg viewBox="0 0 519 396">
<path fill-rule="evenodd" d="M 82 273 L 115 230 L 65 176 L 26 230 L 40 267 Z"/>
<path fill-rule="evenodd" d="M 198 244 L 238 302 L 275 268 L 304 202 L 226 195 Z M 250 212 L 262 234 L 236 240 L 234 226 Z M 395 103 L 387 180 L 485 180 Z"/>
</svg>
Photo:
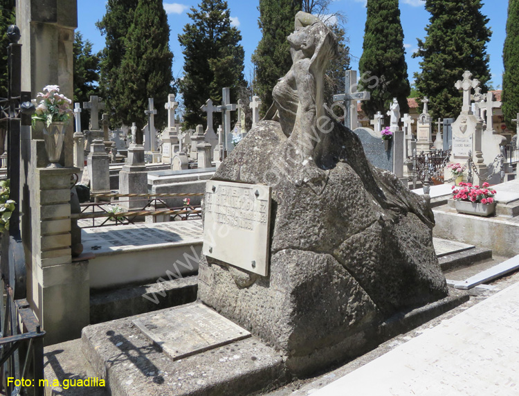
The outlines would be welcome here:
<svg viewBox="0 0 519 396">
<path fill-rule="evenodd" d="M 519 1 L 509 0 L 507 38 L 503 49 L 503 115 L 507 126 L 515 130 L 512 123 L 519 111 Z"/>
</svg>

